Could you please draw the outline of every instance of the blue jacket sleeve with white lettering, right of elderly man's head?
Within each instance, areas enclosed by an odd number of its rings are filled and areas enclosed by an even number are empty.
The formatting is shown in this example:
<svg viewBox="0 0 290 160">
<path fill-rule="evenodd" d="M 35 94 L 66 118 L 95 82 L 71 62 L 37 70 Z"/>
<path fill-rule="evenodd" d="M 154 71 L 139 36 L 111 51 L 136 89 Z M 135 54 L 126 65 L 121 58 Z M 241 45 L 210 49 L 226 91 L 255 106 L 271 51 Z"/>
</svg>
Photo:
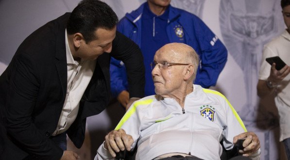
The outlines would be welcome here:
<svg viewBox="0 0 290 160">
<path fill-rule="evenodd" d="M 201 53 L 198 53 L 201 64 L 194 84 L 201 85 L 203 88 L 209 88 L 217 83 L 219 74 L 227 61 L 227 50 L 222 41 L 201 19 L 195 18 L 193 24 L 201 49 Z"/>
</svg>

